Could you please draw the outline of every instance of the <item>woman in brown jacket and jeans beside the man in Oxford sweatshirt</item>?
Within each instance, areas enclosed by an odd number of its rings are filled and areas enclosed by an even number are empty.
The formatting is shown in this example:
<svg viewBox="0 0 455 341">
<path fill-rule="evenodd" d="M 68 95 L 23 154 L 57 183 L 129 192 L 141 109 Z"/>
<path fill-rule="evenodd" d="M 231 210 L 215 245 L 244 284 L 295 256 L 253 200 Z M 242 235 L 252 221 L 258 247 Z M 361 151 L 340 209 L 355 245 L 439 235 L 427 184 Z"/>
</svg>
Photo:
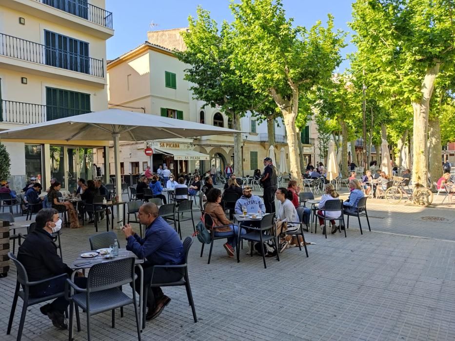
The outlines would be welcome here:
<svg viewBox="0 0 455 341">
<path fill-rule="evenodd" d="M 230 225 L 226 227 L 219 227 L 215 229 L 215 237 L 226 236 L 228 241 L 224 244 L 224 248 L 229 257 L 234 257 L 236 245 L 238 226 L 231 223 L 231 221 L 224 214 L 224 210 L 219 205 L 221 202 L 221 191 L 217 188 L 210 189 L 207 192 L 207 204 L 205 205 L 205 213 L 210 214 L 215 226 Z M 234 235 L 232 231 L 234 230 Z M 240 234 L 245 234 L 246 231 L 242 228 Z"/>
</svg>

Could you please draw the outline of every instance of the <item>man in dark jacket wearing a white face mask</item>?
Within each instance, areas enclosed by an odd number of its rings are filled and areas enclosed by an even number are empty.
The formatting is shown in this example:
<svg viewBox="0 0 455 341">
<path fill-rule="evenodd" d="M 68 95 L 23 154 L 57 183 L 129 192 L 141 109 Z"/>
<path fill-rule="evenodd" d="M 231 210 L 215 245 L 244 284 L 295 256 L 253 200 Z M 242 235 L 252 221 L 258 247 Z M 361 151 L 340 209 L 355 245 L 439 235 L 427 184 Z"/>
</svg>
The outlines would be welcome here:
<svg viewBox="0 0 455 341">
<path fill-rule="evenodd" d="M 30 282 L 40 281 L 45 278 L 61 274 L 71 275 L 72 269 L 62 262 L 57 254 L 57 246 L 52 239 L 52 233 L 61 228 L 59 212 L 55 208 L 43 208 L 36 216 L 36 228 L 27 235 L 19 247 L 18 260 L 24 265 Z M 76 277 L 75 283 L 81 288 L 86 287 L 85 277 Z M 62 292 L 65 289 L 66 277 L 45 282 L 30 287 L 31 297 L 43 297 Z M 63 312 L 68 307 L 69 301 L 59 297 L 52 303 L 40 307 L 43 315 L 47 315 L 52 324 L 60 329 L 67 329 Z"/>
</svg>

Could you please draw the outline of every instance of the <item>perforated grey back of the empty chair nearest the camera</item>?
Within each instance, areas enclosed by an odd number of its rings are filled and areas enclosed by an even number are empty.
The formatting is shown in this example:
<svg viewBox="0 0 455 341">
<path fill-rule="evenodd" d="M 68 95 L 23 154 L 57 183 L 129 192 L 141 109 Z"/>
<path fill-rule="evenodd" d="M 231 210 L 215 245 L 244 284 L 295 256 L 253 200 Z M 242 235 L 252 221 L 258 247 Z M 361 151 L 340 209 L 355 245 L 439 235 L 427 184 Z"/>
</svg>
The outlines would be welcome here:
<svg viewBox="0 0 455 341">
<path fill-rule="evenodd" d="M 93 265 L 87 276 L 87 294 L 131 282 L 134 290 L 134 262 L 134 257 L 127 257 Z"/>
</svg>

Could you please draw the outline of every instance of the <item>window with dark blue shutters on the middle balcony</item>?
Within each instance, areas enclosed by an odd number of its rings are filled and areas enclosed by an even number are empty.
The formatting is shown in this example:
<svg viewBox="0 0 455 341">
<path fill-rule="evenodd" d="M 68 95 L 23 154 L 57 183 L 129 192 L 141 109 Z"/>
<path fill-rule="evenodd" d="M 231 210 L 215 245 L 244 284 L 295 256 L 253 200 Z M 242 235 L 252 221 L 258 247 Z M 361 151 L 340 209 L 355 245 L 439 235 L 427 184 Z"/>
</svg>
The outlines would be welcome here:
<svg viewBox="0 0 455 341">
<path fill-rule="evenodd" d="M 90 73 L 88 43 L 44 30 L 46 65 Z"/>
</svg>

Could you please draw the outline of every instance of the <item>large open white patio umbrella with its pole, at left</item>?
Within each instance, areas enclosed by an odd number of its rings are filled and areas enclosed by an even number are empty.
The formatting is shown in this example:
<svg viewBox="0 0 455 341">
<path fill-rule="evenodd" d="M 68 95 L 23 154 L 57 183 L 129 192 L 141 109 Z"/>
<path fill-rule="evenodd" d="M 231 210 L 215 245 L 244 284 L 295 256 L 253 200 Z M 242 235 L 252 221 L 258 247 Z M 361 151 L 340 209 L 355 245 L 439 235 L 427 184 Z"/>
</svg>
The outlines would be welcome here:
<svg viewBox="0 0 455 341">
<path fill-rule="evenodd" d="M 151 114 L 120 109 L 59 118 L 44 123 L 0 132 L 0 140 L 114 141 L 116 187 L 121 189 L 120 149 L 122 141 L 144 141 L 166 138 L 187 138 L 205 135 L 231 134 L 237 131 Z"/>
</svg>

